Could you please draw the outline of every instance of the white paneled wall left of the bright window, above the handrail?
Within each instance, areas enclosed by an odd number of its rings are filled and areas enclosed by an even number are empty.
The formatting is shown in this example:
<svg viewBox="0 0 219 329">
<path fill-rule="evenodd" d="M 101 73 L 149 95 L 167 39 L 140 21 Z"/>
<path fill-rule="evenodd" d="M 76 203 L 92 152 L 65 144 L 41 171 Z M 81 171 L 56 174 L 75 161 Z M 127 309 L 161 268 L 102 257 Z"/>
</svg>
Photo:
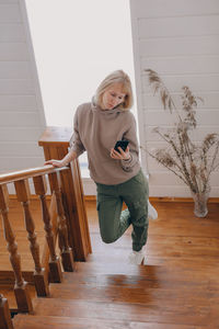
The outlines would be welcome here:
<svg viewBox="0 0 219 329">
<path fill-rule="evenodd" d="M 25 3 L 0 0 L 0 172 L 43 164 L 45 126 Z"/>
</svg>

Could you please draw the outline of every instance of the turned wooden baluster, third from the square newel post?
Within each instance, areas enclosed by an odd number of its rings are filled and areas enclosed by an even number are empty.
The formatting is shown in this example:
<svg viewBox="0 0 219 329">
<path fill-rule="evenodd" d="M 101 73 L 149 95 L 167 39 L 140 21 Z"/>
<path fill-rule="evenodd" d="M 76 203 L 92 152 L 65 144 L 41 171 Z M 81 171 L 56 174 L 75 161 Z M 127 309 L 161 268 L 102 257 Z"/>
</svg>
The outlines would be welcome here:
<svg viewBox="0 0 219 329">
<path fill-rule="evenodd" d="M 26 226 L 26 230 L 28 232 L 27 238 L 30 240 L 30 249 L 35 264 L 34 271 L 34 283 L 36 293 L 38 296 L 47 296 L 49 295 L 48 291 L 48 277 L 44 268 L 42 268 L 41 260 L 39 260 L 39 246 L 36 241 L 36 234 L 35 234 L 35 225 L 32 218 L 32 214 L 30 212 L 30 186 L 27 180 L 21 180 L 14 182 L 18 201 L 21 202 L 23 205 L 24 211 L 24 222 Z"/>
</svg>

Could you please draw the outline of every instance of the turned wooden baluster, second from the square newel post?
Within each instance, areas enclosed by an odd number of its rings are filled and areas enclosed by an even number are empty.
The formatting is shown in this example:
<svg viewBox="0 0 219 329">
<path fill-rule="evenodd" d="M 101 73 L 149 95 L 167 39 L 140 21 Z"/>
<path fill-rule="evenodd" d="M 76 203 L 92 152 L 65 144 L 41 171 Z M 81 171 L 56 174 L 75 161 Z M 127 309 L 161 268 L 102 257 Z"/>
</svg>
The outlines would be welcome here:
<svg viewBox="0 0 219 329">
<path fill-rule="evenodd" d="M 61 266 L 58 256 L 56 254 L 55 250 L 55 238 L 49 216 L 48 206 L 46 203 L 46 192 L 47 192 L 47 184 L 45 175 L 38 175 L 33 178 L 34 188 L 36 195 L 39 196 L 41 205 L 42 205 L 42 217 L 44 220 L 44 229 L 46 231 L 46 240 L 49 249 L 49 280 L 50 282 L 61 282 L 62 273 Z"/>
</svg>

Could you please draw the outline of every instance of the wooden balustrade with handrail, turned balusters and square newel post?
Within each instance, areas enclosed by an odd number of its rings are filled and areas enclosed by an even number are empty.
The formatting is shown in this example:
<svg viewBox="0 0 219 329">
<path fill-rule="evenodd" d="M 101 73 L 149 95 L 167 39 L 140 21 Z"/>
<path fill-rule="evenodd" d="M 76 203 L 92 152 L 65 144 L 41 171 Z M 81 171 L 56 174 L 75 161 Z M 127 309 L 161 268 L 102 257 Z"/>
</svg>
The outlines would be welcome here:
<svg viewBox="0 0 219 329">
<path fill-rule="evenodd" d="M 69 134 L 67 134 L 70 136 Z M 61 138 L 60 138 L 61 136 Z M 47 128 L 39 145 L 44 147 L 45 158 L 62 158 L 69 147 L 65 140 L 66 134 L 60 135 L 59 128 Z M 48 209 L 46 194 L 48 175 L 51 202 Z M 33 179 L 35 194 L 38 195 L 44 222 L 46 252 L 41 259 L 39 245 L 35 231 L 35 222 L 30 208 L 30 179 Z M 28 283 L 24 281 L 21 268 L 21 256 L 16 243 L 15 232 L 10 223 L 8 183 L 13 183 L 18 201 L 21 202 L 27 240 L 34 262 L 33 279 L 38 296 L 49 295 L 49 282 L 60 283 L 62 280 L 59 256 L 56 253 L 56 240 L 60 250 L 64 271 L 73 271 L 73 261 L 85 261 L 91 252 L 91 241 L 85 214 L 83 189 L 78 160 L 70 167 L 54 168 L 44 166 L 0 174 L 0 214 L 7 240 L 10 262 L 13 269 L 14 295 L 18 311 L 32 313 L 33 305 Z M 56 211 L 55 211 L 56 209 Z M 0 295 L 0 329 L 13 328 L 7 299 Z"/>
</svg>

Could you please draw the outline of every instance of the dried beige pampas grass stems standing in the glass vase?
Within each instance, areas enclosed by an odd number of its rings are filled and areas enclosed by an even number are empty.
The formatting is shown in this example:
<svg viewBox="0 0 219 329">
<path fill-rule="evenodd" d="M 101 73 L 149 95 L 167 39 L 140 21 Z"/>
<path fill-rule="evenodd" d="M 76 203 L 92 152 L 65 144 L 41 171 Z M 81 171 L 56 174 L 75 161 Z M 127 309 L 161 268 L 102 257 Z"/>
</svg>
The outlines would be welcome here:
<svg viewBox="0 0 219 329">
<path fill-rule="evenodd" d="M 149 84 L 154 94 L 159 94 L 164 110 L 176 113 L 177 122 L 173 128 L 154 128 L 154 133 L 168 144 L 164 149 L 148 154 L 159 163 L 176 174 L 193 193 L 205 193 L 210 190 L 209 178 L 219 167 L 219 134 L 208 134 L 203 143 L 195 144 L 191 132 L 197 128 L 196 111 L 198 101 L 187 86 L 182 87 L 182 109 L 178 110 L 158 73 L 146 69 Z M 141 147 L 145 149 L 143 147 Z"/>
</svg>

